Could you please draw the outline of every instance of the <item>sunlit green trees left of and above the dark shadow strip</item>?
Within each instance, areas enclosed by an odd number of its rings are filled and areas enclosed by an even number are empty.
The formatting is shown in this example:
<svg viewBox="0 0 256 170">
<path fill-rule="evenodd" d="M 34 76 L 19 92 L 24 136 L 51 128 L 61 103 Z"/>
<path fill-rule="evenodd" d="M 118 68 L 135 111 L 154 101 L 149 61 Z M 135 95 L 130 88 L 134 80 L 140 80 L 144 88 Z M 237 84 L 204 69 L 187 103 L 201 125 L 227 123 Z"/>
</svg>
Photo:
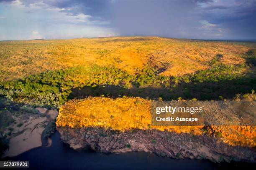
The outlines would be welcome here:
<svg viewBox="0 0 256 170">
<path fill-rule="evenodd" d="M 81 66 L 2 82 L 0 94 L 10 100 L 25 98 L 33 105 L 59 107 L 70 99 L 75 87 L 87 86 L 96 89 L 99 85 L 123 85 L 125 88 L 132 84 L 144 87 L 160 85 L 167 80 L 167 77 L 158 76 L 150 70 L 143 70 L 142 75 L 128 75 L 127 72 L 113 67 Z"/>
</svg>

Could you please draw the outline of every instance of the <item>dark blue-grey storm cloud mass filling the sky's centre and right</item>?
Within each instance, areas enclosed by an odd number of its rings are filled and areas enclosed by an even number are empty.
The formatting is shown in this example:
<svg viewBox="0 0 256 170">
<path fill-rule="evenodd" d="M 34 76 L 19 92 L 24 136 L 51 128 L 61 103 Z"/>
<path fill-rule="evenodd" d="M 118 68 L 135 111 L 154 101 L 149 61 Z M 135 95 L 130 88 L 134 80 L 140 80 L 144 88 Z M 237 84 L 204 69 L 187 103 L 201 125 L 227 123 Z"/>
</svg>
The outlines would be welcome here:
<svg viewBox="0 0 256 170">
<path fill-rule="evenodd" d="M 0 0 L 3 1 L 3 0 Z M 7 0 L 4 0 L 7 1 Z M 120 35 L 256 39 L 256 0 L 20 0 L 108 21 Z"/>
</svg>

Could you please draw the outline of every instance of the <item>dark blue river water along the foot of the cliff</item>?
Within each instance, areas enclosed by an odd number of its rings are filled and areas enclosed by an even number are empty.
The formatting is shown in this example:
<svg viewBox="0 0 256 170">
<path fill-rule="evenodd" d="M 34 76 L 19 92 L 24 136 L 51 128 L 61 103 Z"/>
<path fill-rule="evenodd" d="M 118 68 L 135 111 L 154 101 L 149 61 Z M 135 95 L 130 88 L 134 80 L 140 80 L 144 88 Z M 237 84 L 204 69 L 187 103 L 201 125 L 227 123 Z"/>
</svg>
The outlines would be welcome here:
<svg viewBox="0 0 256 170">
<path fill-rule="evenodd" d="M 76 151 L 69 148 L 60 140 L 58 132 L 51 137 L 50 147 L 39 147 L 27 151 L 13 158 L 5 158 L 9 161 L 29 161 L 29 167 L 40 169 L 83 169 L 83 170 L 216 170 L 216 169 L 253 169 L 255 165 L 245 163 L 231 163 L 217 165 L 208 160 L 176 160 L 159 157 L 155 154 L 125 153 L 103 154 L 88 150 Z"/>
</svg>

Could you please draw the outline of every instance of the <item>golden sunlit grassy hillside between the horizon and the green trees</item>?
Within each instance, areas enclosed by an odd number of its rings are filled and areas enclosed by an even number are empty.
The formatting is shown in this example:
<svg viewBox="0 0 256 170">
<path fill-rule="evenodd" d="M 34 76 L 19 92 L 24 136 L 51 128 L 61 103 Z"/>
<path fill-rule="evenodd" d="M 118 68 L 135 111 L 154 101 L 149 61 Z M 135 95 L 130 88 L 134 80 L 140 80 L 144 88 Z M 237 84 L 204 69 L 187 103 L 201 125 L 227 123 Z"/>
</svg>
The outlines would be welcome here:
<svg viewBox="0 0 256 170">
<path fill-rule="evenodd" d="M 75 66 L 116 67 L 129 74 L 154 67 L 161 75 L 180 76 L 221 62 L 243 64 L 255 43 L 180 40 L 163 37 L 108 37 L 73 40 L 0 42 L 0 80 Z"/>
</svg>

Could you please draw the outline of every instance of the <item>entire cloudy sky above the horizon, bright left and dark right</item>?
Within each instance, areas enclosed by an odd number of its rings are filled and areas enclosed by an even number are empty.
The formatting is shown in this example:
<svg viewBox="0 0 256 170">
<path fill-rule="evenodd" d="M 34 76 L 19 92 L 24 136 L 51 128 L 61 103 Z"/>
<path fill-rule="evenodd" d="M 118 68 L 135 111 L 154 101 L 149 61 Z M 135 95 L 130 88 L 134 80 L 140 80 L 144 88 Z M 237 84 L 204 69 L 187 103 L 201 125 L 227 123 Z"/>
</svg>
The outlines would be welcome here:
<svg viewBox="0 0 256 170">
<path fill-rule="evenodd" d="M 0 0 L 0 40 L 256 40 L 256 0 Z"/>
</svg>

